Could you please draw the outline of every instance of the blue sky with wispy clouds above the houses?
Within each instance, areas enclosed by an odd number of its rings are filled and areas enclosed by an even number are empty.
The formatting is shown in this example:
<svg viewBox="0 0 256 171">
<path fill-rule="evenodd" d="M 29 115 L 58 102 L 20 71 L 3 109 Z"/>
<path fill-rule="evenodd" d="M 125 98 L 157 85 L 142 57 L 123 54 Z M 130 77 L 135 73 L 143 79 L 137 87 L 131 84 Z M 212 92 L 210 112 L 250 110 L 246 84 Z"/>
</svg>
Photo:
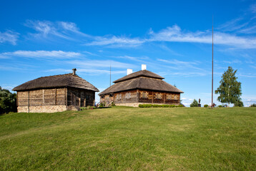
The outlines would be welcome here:
<svg viewBox="0 0 256 171">
<path fill-rule="evenodd" d="M 255 1 L 0 2 L 0 86 L 72 72 L 99 90 L 147 64 L 184 91 L 182 103 L 211 102 L 232 66 L 245 106 L 256 103 Z M 97 97 L 99 100 L 99 97 Z M 217 95 L 214 96 L 217 104 Z"/>
</svg>

